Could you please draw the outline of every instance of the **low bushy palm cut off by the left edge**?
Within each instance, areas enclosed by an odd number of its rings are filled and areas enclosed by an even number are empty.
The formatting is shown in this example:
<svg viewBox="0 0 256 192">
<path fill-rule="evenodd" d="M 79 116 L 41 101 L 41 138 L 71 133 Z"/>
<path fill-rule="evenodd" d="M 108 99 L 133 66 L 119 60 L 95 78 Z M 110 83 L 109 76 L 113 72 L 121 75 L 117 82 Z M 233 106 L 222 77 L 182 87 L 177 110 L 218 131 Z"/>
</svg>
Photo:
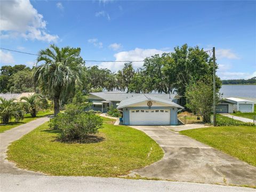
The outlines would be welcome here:
<svg viewBox="0 0 256 192">
<path fill-rule="evenodd" d="M 14 99 L 4 99 L 0 97 L 0 118 L 2 123 L 9 123 L 10 119 L 14 117 L 15 121 L 23 118 L 23 111 L 19 103 L 14 102 Z"/>
</svg>

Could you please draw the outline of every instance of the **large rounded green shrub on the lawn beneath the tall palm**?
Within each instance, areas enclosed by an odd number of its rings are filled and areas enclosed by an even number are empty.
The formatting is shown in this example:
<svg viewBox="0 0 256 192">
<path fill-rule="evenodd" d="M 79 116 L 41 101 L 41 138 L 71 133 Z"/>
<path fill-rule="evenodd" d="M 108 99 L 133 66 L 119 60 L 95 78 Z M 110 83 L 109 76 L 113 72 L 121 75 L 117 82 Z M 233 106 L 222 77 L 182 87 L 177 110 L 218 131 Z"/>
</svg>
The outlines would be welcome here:
<svg viewBox="0 0 256 192">
<path fill-rule="evenodd" d="M 89 135 L 98 133 L 98 129 L 102 127 L 102 119 L 71 103 L 66 105 L 64 113 L 59 113 L 51 120 L 50 127 L 60 131 L 61 140 L 83 141 Z"/>
</svg>

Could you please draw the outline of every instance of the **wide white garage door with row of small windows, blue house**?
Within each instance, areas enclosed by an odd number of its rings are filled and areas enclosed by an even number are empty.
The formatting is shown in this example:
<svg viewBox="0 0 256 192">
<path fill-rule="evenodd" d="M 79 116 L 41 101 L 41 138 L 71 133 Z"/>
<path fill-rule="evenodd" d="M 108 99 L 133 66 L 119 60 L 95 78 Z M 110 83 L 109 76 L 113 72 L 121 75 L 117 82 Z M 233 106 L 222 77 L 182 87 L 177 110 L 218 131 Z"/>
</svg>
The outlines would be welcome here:
<svg viewBox="0 0 256 192">
<path fill-rule="evenodd" d="M 131 125 L 170 125 L 170 110 L 130 110 Z"/>
</svg>

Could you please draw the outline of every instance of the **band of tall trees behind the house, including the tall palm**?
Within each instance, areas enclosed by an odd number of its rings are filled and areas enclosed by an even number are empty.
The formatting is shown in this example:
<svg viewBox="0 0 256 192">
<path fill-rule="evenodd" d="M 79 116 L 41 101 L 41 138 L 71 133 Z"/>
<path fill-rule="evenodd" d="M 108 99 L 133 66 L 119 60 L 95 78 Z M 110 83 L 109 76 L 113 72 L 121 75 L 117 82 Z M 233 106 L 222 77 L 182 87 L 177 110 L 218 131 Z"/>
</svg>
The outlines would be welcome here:
<svg viewBox="0 0 256 192">
<path fill-rule="evenodd" d="M 171 53 L 156 54 L 135 69 L 131 62 L 116 73 L 98 66 L 86 67 L 80 48 L 50 45 L 38 53 L 37 65 L 1 68 L 1 92 L 36 91 L 54 102 L 54 114 L 60 101 L 67 103 L 77 90 L 84 94 L 102 90 L 134 93 L 173 93 L 185 95 L 189 84 L 212 81 L 213 62 L 198 46 L 174 47 Z M 217 77 L 217 90 L 221 81 Z"/>
</svg>

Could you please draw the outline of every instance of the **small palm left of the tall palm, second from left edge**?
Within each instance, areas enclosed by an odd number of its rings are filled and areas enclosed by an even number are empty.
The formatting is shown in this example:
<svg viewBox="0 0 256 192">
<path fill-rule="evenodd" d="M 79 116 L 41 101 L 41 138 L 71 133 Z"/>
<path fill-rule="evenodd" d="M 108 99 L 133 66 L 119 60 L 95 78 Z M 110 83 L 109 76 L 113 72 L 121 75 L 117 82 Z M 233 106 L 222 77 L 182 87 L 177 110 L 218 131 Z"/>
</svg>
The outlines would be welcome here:
<svg viewBox="0 0 256 192">
<path fill-rule="evenodd" d="M 31 117 L 36 117 L 37 111 L 43 108 L 45 99 L 39 94 L 29 95 L 28 97 L 21 97 L 20 100 L 23 102 L 23 107 L 31 114 Z"/>
</svg>

